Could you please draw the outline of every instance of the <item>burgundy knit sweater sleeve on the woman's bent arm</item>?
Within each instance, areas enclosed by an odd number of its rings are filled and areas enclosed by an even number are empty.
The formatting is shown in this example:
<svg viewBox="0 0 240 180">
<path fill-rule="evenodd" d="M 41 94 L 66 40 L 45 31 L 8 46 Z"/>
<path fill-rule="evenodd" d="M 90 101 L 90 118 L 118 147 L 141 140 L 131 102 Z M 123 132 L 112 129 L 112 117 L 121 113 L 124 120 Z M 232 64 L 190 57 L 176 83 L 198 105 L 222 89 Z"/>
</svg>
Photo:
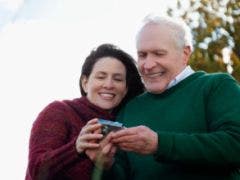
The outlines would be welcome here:
<svg viewBox="0 0 240 180">
<path fill-rule="evenodd" d="M 90 160 L 77 153 L 77 136 L 68 137 L 68 118 L 59 102 L 50 104 L 39 114 L 31 131 L 27 180 L 53 179 L 57 174 L 74 172 L 76 168 L 85 170 L 84 161 L 89 163 Z"/>
</svg>

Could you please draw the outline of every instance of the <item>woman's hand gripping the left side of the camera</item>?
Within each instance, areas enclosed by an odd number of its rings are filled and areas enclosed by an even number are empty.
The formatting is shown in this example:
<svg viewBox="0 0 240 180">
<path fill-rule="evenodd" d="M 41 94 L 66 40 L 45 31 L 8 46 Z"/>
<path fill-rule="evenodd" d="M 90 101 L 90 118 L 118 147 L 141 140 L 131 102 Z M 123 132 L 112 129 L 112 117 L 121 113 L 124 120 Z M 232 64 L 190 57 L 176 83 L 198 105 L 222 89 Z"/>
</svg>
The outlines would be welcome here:
<svg viewBox="0 0 240 180">
<path fill-rule="evenodd" d="M 85 152 L 87 149 L 91 150 L 99 148 L 99 140 L 102 138 L 101 124 L 98 123 L 98 119 L 95 118 L 88 121 L 77 137 L 75 143 L 77 152 L 80 154 Z"/>
</svg>

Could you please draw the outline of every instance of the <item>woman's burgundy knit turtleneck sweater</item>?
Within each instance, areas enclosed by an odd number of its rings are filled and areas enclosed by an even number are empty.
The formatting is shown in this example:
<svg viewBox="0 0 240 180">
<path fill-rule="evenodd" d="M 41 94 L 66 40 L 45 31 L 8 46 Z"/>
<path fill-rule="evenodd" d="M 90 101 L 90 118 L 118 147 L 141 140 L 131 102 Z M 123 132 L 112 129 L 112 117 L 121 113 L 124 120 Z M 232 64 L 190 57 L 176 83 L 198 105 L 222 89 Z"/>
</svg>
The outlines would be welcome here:
<svg viewBox="0 0 240 180">
<path fill-rule="evenodd" d="M 33 124 L 26 180 L 89 180 L 93 163 L 79 155 L 75 141 L 81 128 L 93 118 L 113 119 L 87 98 L 54 101 Z"/>
</svg>

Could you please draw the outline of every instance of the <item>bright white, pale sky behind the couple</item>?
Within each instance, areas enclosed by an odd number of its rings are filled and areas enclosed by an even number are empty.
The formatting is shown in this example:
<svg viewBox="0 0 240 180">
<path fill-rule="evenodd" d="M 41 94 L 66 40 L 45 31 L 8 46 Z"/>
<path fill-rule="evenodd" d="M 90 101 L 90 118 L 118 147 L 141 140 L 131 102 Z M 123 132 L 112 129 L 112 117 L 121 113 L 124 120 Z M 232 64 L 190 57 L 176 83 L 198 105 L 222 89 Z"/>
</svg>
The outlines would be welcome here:
<svg viewBox="0 0 240 180">
<path fill-rule="evenodd" d="M 0 179 L 24 179 L 38 113 L 80 97 L 89 52 L 114 43 L 135 55 L 135 33 L 149 13 L 176 0 L 0 0 Z"/>
</svg>

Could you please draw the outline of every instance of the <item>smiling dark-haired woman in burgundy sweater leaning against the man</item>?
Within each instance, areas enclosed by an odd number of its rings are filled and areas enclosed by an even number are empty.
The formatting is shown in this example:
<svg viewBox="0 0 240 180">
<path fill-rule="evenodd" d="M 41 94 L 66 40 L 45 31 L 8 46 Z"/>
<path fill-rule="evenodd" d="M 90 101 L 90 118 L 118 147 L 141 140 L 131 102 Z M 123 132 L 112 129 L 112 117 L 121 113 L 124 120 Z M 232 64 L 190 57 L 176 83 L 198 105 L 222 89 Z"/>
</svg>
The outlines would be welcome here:
<svg viewBox="0 0 240 180">
<path fill-rule="evenodd" d="M 86 58 L 80 89 L 83 97 L 51 103 L 34 122 L 26 180 L 90 179 L 103 137 L 98 118 L 114 120 L 121 106 L 143 92 L 143 84 L 133 58 L 103 44 Z"/>
</svg>

